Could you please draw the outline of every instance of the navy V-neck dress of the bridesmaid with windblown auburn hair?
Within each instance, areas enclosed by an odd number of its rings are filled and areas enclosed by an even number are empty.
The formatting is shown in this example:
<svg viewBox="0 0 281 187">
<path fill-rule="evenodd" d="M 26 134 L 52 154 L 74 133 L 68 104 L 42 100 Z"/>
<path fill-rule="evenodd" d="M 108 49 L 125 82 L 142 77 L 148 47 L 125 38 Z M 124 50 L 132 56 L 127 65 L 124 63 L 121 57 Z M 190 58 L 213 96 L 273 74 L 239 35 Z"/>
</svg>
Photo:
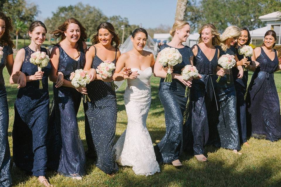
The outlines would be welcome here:
<svg viewBox="0 0 281 187">
<path fill-rule="evenodd" d="M 56 46 L 59 48 L 58 72 L 62 72 L 64 79 L 70 81 L 71 72 L 84 68 L 83 45 L 80 45 L 78 60 L 71 58 L 60 45 Z M 82 94 L 74 88 L 66 86 L 56 88 L 55 85 L 56 83 L 53 84 L 54 103 L 48 129 L 48 164 L 64 176 L 82 176 L 85 174 L 85 151 L 76 117 Z"/>
</svg>

